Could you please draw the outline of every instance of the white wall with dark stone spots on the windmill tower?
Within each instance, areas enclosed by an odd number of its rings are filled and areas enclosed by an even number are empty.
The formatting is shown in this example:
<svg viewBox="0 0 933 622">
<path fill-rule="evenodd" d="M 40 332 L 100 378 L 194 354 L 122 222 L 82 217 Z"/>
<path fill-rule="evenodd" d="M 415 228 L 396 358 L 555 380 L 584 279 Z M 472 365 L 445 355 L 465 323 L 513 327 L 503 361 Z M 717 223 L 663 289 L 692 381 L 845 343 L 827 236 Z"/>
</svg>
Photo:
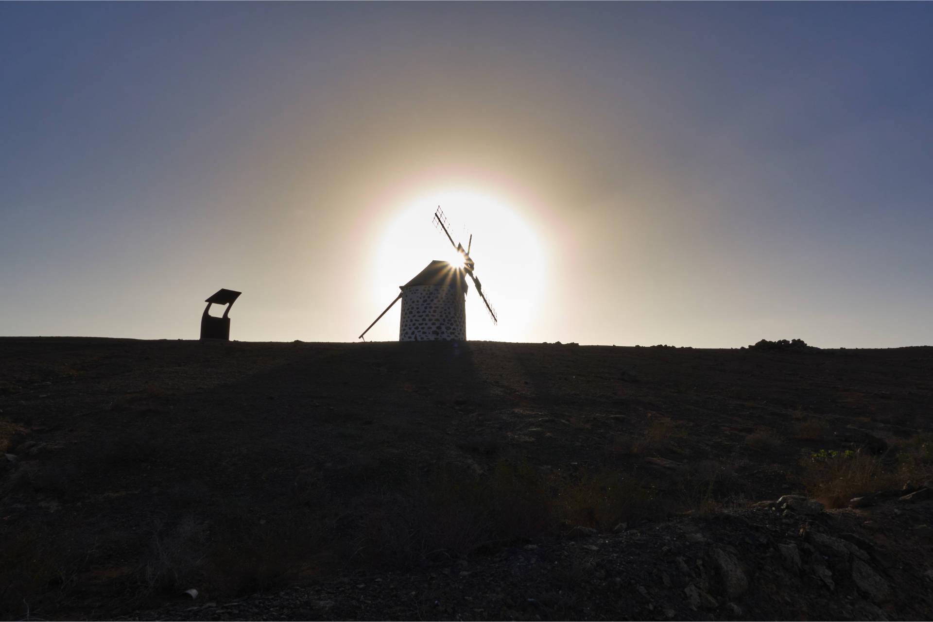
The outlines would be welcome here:
<svg viewBox="0 0 933 622">
<path fill-rule="evenodd" d="M 454 285 L 411 285 L 402 290 L 399 341 L 466 339 L 463 291 Z"/>
</svg>

